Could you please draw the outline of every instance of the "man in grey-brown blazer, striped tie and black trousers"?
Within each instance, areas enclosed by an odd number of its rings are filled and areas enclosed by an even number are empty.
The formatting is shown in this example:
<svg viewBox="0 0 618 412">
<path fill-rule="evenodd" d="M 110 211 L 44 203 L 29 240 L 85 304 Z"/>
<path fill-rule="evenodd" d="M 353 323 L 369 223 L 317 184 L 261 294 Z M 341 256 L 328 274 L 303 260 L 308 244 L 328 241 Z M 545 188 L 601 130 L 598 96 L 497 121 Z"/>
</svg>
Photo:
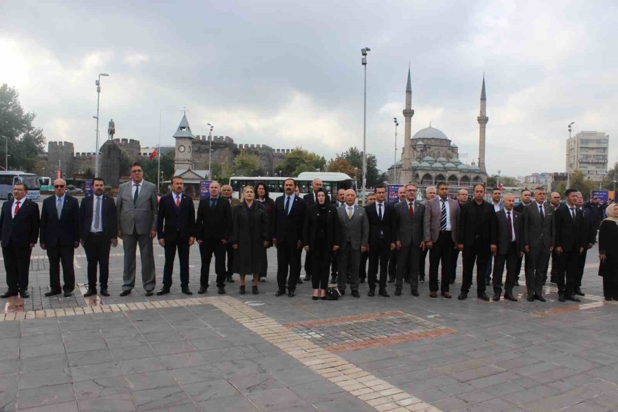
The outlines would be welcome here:
<svg viewBox="0 0 618 412">
<path fill-rule="evenodd" d="M 429 249 L 429 297 L 437 297 L 437 268 L 442 262 L 440 292 L 443 297 L 450 299 L 448 285 L 453 250 L 457 244 L 459 203 L 448 198 L 446 183 L 440 183 L 437 192 L 438 196 L 425 203 L 423 216 L 423 238 L 425 247 Z"/>
</svg>

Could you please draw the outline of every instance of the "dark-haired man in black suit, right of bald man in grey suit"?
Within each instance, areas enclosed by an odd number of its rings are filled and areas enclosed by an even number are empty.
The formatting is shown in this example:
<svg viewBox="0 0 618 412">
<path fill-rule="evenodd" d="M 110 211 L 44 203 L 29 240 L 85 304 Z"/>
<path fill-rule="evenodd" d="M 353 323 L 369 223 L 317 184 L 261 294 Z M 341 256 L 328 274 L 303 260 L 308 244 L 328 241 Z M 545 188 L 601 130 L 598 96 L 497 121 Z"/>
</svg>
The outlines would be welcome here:
<svg viewBox="0 0 618 412">
<path fill-rule="evenodd" d="M 374 187 L 376 201 L 367 205 L 367 220 L 369 220 L 369 293 L 368 296 L 376 295 L 376 276 L 378 265 L 380 266 L 380 279 L 378 295 L 389 297 L 387 293 L 387 277 L 389 268 L 389 256 L 395 249 L 395 210 L 385 202 L 386 188 L 384 185 Z"/>
</svg>

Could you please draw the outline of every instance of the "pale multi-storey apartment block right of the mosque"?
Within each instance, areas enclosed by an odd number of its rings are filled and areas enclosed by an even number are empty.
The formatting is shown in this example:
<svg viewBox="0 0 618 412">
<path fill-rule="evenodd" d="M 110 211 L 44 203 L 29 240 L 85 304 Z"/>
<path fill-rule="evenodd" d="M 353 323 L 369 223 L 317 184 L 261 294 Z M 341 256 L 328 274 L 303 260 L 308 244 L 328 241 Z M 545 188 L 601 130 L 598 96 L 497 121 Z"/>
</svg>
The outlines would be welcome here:
<svg viewBox="0 0 618 412">
<path fill-rule="evenodd" d="M 567 173 L 580 170 L 592 181 L 607 174 L 609 136 L 604 132 L 577 133 L 567 139 Z"/>
</svg>

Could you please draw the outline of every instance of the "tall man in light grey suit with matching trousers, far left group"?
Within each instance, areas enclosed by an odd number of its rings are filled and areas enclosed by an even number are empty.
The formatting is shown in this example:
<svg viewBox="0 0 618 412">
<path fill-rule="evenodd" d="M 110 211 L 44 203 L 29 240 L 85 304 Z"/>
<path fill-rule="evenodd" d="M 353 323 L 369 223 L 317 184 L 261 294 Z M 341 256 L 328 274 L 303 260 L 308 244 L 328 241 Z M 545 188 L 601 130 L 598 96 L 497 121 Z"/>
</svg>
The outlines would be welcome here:
<svg viewBox="0 0 618 412">
<path fill-rule="evenodd" d="M 157 236 L 157 188 L 144 180 L 144 170 L 139 163 L 131 166 L 131 180 L 120 185 L 116 209 L 118 238 L 122 239 L 124 247 L 124 284 L 120 296 L 128 295 L 135 287 L 135 249 L 138 243 L 141 281 L 146 296 L 152 296 L 156 284 L 152 239 Z"/>
</svg>

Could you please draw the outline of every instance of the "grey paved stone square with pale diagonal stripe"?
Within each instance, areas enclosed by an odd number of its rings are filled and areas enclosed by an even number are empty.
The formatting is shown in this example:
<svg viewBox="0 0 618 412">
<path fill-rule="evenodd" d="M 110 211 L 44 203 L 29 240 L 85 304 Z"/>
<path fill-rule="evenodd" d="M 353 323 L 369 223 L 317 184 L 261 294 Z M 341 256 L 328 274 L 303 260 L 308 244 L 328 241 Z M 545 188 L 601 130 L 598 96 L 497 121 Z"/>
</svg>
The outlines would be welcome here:
<svg viewBox="0 0 618 412">
<path fill-rule="evenodd" d="M 32 298 L 0 314 L 0 411 L 618 411 L 618 308 L 602 299 L 596 249 L 582 304 L 561 304 L 553 285 L 546 304 L 430 299 L 428 284 L 417 298 L 392 286 L 369 298 L 364 284 L 360 299 L 312 301 L 307 283 L 275 297 L 272 249 L 260 295 L 238 295 L 236 277 L 225 297 L 213 286 L 187 300 L 176 277 L 165 297 L 121 298 L 121 252 L 113 296 L 49 299 L 34 250 Z M 196 292 L 197 248 L 191 266 Z M 78 249 L 81 284 L 85 268 Z"/>
</svg>

